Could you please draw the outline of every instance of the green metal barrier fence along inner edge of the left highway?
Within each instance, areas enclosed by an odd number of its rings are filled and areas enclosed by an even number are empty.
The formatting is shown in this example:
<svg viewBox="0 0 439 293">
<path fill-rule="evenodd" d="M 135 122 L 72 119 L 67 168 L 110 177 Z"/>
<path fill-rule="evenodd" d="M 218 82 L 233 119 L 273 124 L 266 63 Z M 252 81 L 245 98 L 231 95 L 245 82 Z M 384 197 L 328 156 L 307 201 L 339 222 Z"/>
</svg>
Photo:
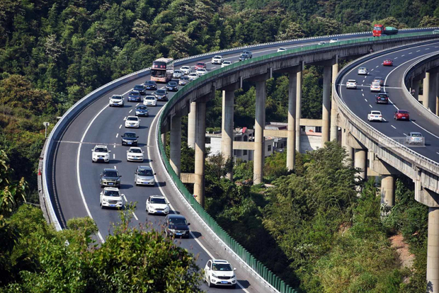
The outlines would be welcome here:
<svg viewBox="0 0 439 293">
<path fill-rule="evenodd" d="M 412 36 L 420 36 L 420 35 L 427 36 L 427 35 L 432 35 L 432 33 L 431 32 L 409 33 L 409 34 L 404 34 L 404 36 L 402 36 L 402 38 L 409 38 Z M 274 53 L 274 54 L 267 54 L 264 56 L 260 56 L 260 57 L 253 58 L 250 60 L 245 60 L 242 62 L 236 62 L 236 63 L 233 63 L 232 65 L 227 66 L 227 67 L 215 69 L 214 71 L 211 71 L 210 73 L 202 75 L 200 78 L 197 78 L 196 80 L 187 84 L 182 89 L 180 89 L 180 91 L 178 91 L 176 93 L 176 95 L 174 95 L 171 99 L 169 99 L 169 102 L 167 102 L 167 104 L 163 107 L 163 111 L 158 119 L 158 132 L 157 132 L 156 139 L 158 141 L 159 151 L 161 153 L 161 158 L 162 158 L 163 164 L 165 165 L 167 172 L 171 176 L 171 179 L 174 181 L 174 184 L 176 185 L 176 187 L 178 187 L 178 189 L 180 190 L 180 193 L 186 198 L 186 200 L 189 202 L 189 204 L 191 204 L 191 207 L 193 207 L 193 209 L 195 209 L 195 211 L 198 213 L 198 215 L 200 215 L 200 218 L 202 218 L 202 220 L 204 220 L 204 222 L 206 222 L 206 224 L 218 235 L 218 237 L 220 239 L 222 239 L 222 241 L 224 241 L 237 255 L 239 255 L 239 257 L 241 257 L 241 259 L 243 259 L 248 264 L 248 266 L 250 266 L 250 268 L 252 268 L 255 272 L 257 272 L 257 274 L 259 274 L 261 277 L 263 277 L 263 279 L 265 279 L 265 281 L 267 281 L 270 285 L 272 285 L 273 288 L 275 288 L 279 292 L 292 293 L 292 292 L 296 292 L 296 291 L 293 288 L 291 288 L 289 285 L 285 284 L 284 281 L 279 279 L 276 276 L 276 274 L 273 274 L 270 270 L 268 270 L 268 268 L 266 268 L 263 265 L 263 263 L 261 263 L 261 261 L 258 261 L 257 259 L 255 259 L 251 255 L 251 253 L 249 253 L 248 250 L 246 250 L 246 248 L 241 246 L 241 244 L 239 244 L 235 239 L 233 239 L 233 237 L 230 237 L 230 235 L 228 235 L 228 233 L 226 233 L 226 231 L 224 231 L 224 229 L 221 226 L 219 226 L 219 224 L 217 224 L 217 222 L 211 217 L 211 215 L 209 215 L 209 213 L 207 213 L 200 206 L 198 201 L 195 200 L 195 198 L 193 198 L 192 194 L 187 190 L 184 183 L 182 183 L 180 178 L 178 178 L 177 174 L 174 172 L 174 169 L 172 169 L 172 167 L 169 163 L 169 159 L 166 156 L 163 142 L 160 139 L 161 133 L 162 133 L 161 126 L 163 124 L 163 119 L 165 119 L 165 117 L 167 117 L 167 115 L 171 111 L 171 108 L 182 97 L 184 97 L 187 93 L 189 93 L 190 91 L 193 91 L 193 89 L 202 85 L 202 83 L 205 80 L 211 79 L 215 75 L 219 75 L 221 73 L 224 73 L 225 71 L 232 71 L 233 69 L 235 69 L 237 67 L 244 68 L 244 67 L 246 67 L 246 65 L 251 65 L 251 64 L 254 64 L 255 62 L 268 60 L 270 58 L 281 57 L 281 56 L 287 55 L 287 54 L 303 53 L 305 51 L 311 51 L 314 49 L 325 49 L 325 48 L 336 47 L 336 46 L 340 46 L 340 45 L 352 45 L 355 43 L 364 43 L 364 42 L 370 42 L 370 41 L 374 41 L 374 40 L 388 40 L 388 39 L 396 39 L 396 38 L 401 38 L 401 35 L 381 36 L 379 38 L 376 38 L 376 37 L 375 38 L 373 38 L 373 37 L 372 38 L 361 38 L 361 39 L 357 39 L 357 40 L 344 40 L 344 41 L 339 41 L 337 43 L 327 43 L 324 45 L 308 45 L 308 46 L 304 46 L 304 47 L 289 49 L 287 51 L 282 51 L 282 52 L 278 52 L 278 53 Z M 350 111 L 349 109 L 347 109 L 347 110 Z M 361 122 L 363 122 L 363 121 L 361 120 Z M 366 126 L 368 126 L 368 125 L 366 124 Z M 379 132 L 379 133 L 381 133 L 381 132 Z"/>
</svg>

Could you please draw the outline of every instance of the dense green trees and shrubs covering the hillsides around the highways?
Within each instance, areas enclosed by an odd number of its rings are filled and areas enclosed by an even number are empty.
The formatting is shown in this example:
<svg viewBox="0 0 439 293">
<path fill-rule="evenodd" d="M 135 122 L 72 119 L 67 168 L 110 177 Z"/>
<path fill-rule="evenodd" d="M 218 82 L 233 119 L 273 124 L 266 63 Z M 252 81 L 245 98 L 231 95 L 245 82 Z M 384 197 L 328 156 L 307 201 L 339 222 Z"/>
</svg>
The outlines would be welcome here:
<svg viewBox="0 0 439 293">
<path fill-rule="evenodd" d="M 61 292 L 60 286 L 76 285 L 76 292 L 86 292 L 97 288 L 86 287 L 88 282 L 105 283 L 99 279 L 108 270 L 105 261 L 127 244 L 161 245 L 175 251 L 163 259 L 182 259 L 180 279 L 190 282 L 172 292 L 198 292 L 191 255 L 154 232 L 120 233 L 103 250 L 88 249 L 96 228 L 87 219 L 70 222 L 67 231 L 56 234 L 45 226 L 38 209 L 19 207 L 24 198 L 38 202 L 34 194 L 43 121 L 51 122 L 50 130 L 56 117 L 93 89 L 150 67 L 161 56 L 182 58 L 274 40 L 370 31 L 373 23 L 399 28 L 439 26 L 439 2 L 0 1 L 0 150 L 4 151 L 0 239 L 5 239 L 0 243 L 0 287 L 9 285 L 3 288 L 9 292 Z M 268 81 L 268 121 L 285 121 L 287 84 L 285 75 Z M 321 96 L 321 69 L 307 67 L 303 117 L 320 117 Z M 235 99 L 235 126 L 254 124 L 253 107 L 254 88 L 246 84 Z M 209 126 L 220 125 L 220 111 L 217 95 L 209 104 Z M 183 146 L 186 172 L 193 168 L 191 152 Z M 251 162 L 234 166 L 239 185 L 218 180 L 226 169 L 217 158 L 206 163 L 206 208 L 230 235 L 302 292 L 425 292 L 427 212 L 413 200 L 412 185 L 399 180 L 396 205 L 388 217 L 381 218 L 376 187 L 372 182 L 361 185 L 362 196 L 357 198 L 355 170 L 342 164 L 343 157 L 342 149 L 329 143 L 324 150 L 298 155 L 296 172 L 289 174 L 283 167 L 285 154 L 277 154 L 265 163 L 264 180 L 276 185 L 270 190 L 244 184 L 252 177 Z M 395 234 L 402 234 L 416 255 L 411 269 L 399 266 L 390 247 L 388 236 Z M 65 246 L 65 240 L 72 245 Z M 97 266 L 88 266 L 90 261 Z M 52 270 L 61 264 L 71 279 Z M 142 271 L 131 273 L 142 277 Z M 113 277 L 132 281 L 123 279 L 123 274 Z M 166 286 L 165 278 L 154 277 Z"/>
</svg>

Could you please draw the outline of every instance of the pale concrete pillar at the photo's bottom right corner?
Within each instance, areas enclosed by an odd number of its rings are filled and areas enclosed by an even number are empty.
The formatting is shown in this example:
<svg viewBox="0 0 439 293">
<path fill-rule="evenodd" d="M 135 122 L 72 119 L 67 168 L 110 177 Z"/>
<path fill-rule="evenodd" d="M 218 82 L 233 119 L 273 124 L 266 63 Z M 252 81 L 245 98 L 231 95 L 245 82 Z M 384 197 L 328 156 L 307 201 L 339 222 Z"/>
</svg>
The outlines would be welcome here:
<svg viewBox="0 0 439 293">
<path fill-rule="evenodd" d="M 428 208 L 427 292 L 439 292 L 439 208 Z"/>
</svg>

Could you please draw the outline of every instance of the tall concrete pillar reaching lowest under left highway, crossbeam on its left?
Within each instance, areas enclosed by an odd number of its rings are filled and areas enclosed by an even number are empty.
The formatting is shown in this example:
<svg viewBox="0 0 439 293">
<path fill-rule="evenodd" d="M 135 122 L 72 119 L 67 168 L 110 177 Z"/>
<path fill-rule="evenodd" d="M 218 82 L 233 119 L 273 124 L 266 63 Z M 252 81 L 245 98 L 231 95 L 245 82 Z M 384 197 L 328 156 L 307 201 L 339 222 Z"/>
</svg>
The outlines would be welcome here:
<svg viewBox="0 0 439 293">
<path fill-rule="evenodd" d="M 197 102 L 195 110 L 195 184 L 193 194 L 204 207 L 204 149 L 206 146 L 206 102 Z"/>
</svg>

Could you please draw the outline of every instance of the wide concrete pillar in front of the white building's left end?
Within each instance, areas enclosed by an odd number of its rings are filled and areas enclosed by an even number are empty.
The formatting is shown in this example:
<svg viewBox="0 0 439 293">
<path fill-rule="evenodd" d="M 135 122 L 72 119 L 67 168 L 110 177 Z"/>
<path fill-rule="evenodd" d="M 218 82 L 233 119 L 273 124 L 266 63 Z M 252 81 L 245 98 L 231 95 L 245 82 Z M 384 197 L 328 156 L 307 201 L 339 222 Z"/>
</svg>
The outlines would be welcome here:
<svg viewBox="0 0 439 293">
<path fill-rule="evenodd" d="M 222 91 L 221 152 L 224 159 L 233 159 L 233 103 L 235 91 Z M 233 171 L 227 174 L 233 180 Z"/>
</svg>

